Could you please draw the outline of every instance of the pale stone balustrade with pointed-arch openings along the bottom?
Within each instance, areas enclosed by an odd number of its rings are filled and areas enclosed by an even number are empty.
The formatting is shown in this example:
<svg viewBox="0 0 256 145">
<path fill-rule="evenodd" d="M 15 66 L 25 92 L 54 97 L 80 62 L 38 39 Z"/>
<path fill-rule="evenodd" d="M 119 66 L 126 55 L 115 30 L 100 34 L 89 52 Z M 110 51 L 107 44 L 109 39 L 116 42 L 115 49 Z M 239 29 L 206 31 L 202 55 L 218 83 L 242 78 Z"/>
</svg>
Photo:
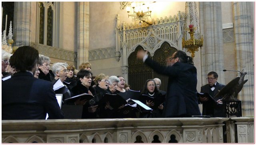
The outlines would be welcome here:
<svg viewBox="0 0 256 145">
<path fill-rule="evenodd" d="M 253 117 L 191 117 L 2 120 L 2 143 L 223 143 L 224 122 L 229 143 L 254 141 Z"/>
</svg>

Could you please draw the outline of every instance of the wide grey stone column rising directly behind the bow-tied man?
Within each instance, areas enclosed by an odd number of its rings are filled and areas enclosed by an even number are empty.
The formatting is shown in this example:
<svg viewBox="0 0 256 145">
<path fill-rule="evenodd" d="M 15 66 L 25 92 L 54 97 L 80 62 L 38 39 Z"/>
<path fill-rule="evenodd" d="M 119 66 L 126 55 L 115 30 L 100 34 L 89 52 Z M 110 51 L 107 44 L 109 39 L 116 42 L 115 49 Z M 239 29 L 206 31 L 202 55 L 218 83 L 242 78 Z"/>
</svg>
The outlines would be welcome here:
<svg viewBox="0 0 256 145">
<path fill-rule="evenodd" d="M 201 49 L 202 80 L 214 71 L 218 73 L 218 82 L 224 83 L 221 2 L 199 2 L 199 18 L 200 32 L 204 37 Z"/>
</svg>

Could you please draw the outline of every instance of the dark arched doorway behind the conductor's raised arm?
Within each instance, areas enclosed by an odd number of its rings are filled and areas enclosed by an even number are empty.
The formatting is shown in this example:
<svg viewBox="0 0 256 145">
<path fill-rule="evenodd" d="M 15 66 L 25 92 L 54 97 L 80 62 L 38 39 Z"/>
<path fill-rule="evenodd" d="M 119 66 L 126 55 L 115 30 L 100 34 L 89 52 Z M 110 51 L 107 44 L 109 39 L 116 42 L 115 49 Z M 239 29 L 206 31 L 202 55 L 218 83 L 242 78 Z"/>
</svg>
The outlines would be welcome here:
<svg viewBox="0 0 256 145">
<path fill-rule="evenodd" d="M 138 46 L 128 58 L 128 82 L 131 86 L 130 89 L 141 90 L 147 79 L 158 77 L 162 82 L 160 89 L 166 91 L 168 76 L 154 72 L 150 67 L 146 66 L 142 60 L 137 60 L 136 54 L 138 50 L 143 50 L 142 46 Z M 176 50 L 176 48 L 173 48 L 170 44 L 164 42 L 162 46 L 156 50 L 152 59 L 165 66 L 166 58 L 172 56 Z M 149 53 L 148 56 L 151 57 Z"/>
</svg>

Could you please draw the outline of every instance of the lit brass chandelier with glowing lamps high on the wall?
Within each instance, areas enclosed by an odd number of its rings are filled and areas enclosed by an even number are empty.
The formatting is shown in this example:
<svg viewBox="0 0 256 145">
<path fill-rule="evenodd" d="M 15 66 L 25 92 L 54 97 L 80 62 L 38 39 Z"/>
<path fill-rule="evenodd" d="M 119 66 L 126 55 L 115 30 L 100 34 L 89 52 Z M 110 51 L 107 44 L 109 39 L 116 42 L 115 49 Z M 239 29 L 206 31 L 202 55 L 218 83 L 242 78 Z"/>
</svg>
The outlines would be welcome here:
<svg viewBox="0 0 256 145">
<path fill-rule="evenodd" d="M 130 14 L 130 9 L 133 9 L 133 14 Z M 126 7 L 126 11 L 128 13 L 128 18 L 132 17 L 134 20 L 139 21 L 139 25 L 142 24 L 142 22 L 152 25 L 152 22 L 148 22 L 148 17 L 151 17 L 151 10 L 149 9 L 149 6 L 146 6 L 144 2 L 132 2 L 131 6 Z"/>
</svg>

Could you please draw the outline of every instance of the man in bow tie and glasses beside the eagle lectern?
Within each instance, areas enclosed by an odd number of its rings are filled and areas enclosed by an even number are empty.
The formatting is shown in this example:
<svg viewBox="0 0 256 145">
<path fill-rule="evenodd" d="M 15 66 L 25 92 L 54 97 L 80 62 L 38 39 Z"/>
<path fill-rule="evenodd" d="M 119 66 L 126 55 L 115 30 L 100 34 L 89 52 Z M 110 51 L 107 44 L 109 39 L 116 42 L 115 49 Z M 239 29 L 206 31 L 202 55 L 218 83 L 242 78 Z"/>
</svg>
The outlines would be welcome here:
<svg viewBox="0 0 256 145">
<path fill-rule="evenodd" d="M 225 85 L 217 82 L 218 74 L 216 72 L 209 72 L 207 74 L 208 84 L 201 87 L 200 93 L 209 93 L 210 96 L 214 97 Z M 220 97 L 214 97 L 214 99 L 220 104 L 214 103 L 208 97 L 199 97 L 198 100 L 203 104 L 202 115 L 210 115 L 211 117 L 225 117 L 225 108 L 220 100 Z"/>
</svg>

